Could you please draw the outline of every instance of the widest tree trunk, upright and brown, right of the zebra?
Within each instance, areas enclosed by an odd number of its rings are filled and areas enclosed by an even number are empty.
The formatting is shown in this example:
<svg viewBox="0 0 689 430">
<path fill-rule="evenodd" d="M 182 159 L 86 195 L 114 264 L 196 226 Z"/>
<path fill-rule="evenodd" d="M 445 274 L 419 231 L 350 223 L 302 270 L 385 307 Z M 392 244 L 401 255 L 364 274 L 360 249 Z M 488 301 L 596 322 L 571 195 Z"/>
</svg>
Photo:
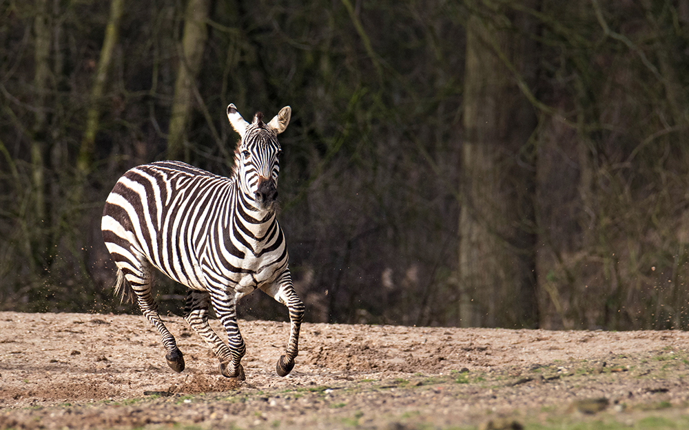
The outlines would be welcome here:
<svg viewBox="0 0 689 430">
<path fill-rule="evenodd" d="M 528 39 L 534 24 L 504 3 L 473 6 L 464 76 L 461 325 L 537 327 L 536 117 L 514 76 L 529 86 L 535 80 L 537 47 Z"/>
</svg>

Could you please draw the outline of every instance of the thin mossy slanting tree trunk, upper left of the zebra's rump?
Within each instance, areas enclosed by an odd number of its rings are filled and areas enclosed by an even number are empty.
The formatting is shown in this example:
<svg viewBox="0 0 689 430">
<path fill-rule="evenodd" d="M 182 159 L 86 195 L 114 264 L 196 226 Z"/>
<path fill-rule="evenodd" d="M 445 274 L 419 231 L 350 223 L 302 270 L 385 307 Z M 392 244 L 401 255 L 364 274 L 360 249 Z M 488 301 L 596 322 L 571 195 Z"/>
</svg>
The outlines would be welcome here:
<svg viewBox="0 0 689 430">
<path fill-rule="evenodd" d="M 80 175 L 90 172 L 94 153 L 94 142 L 98 132 L 99 116 L 101 114 L 100 103 L 103 96 L 103 88 L 107 79 L 107 70 L 110 69 L 112 52 L 114 51 L 119 36 L 120 20 L 122 18 L 124 0 L 112 0 L 110 2 L 110 18 L 105 28 L 105 39 L 101 48 L 101 57 L 96 69 L 96 80 L 91 88 L 89 107 L 86 112 L 86 129 L 81 140 L 79 158 L 76 160 L 76 169 Z"/>
</svg>

